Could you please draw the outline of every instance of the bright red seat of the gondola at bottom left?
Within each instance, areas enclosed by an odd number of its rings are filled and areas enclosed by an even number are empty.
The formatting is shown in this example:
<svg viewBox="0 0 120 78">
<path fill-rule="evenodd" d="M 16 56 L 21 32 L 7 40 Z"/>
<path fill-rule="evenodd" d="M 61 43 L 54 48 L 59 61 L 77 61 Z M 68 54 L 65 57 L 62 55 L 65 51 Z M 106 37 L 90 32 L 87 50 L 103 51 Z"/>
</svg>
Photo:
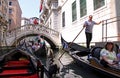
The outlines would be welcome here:
<svg viewBox="0 0 120 78">
<path fill-rule="evenodd" d="M 29 60 L 8 61 L 2 67 L 0 77 L 38 78 Z"/>
</svg>

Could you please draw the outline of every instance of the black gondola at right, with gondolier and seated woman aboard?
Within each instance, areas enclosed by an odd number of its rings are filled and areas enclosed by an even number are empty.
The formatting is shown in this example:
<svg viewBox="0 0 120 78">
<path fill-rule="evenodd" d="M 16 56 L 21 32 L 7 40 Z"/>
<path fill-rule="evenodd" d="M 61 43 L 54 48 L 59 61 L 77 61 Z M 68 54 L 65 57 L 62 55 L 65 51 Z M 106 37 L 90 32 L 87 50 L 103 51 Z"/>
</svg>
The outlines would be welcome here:
<svg viewBox="0 0 120 78">
<path fill-rule="evenodd" d="M 61 38 L 61 42 L 62 45 L 64 43 L 67 43 L 67 45 L 70 44 L 66 42 L 63 38 Z M 64 46 L 65 45 L 63 45 L 63 48 Z M 101 49 L 102 47 L 93 47 L 92 49 L 87 50 L 85 47 L 72 43 L 67 51 L 68 54 L 74 59 L 77 65 L 93 69 L 95 71 L 98 71 L 99 73 L 102 73 L 105 76 L 109 76 L 110 78 L 120 78 L 119 64 L 115 66 L 109 66 L 106 68 L 100 63 L 99 58 Z"/>
</svg>

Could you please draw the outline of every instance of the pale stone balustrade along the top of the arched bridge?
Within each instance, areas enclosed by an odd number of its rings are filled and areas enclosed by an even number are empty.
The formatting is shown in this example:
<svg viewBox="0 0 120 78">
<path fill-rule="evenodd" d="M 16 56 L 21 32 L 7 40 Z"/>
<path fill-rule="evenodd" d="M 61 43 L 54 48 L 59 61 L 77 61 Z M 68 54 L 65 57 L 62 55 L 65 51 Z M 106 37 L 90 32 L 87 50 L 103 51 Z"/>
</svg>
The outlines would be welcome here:
<svg viewBox="0 0 120 78">
<path fill-rule="evenodd" d="M 6 37 L 15 37 L 15 35 L 19 35 L 20 33 L 25 33 L 27 31 L 33 31 L 34 32 L 41 32 L 41 33 L 46 33 L 46 34 L 51 34 L 51 36 L 59 36 L 59 32 L 50 29 L 48 27 L 45 26 L 41 26 L 41 25 L 33 25 L 33 24 L 29 24 L 29 25 L 24 25 L 21 27 L 17 27 L 14 28 L 12 30 L 8 30 L 6 32 Z"/>
</svg>

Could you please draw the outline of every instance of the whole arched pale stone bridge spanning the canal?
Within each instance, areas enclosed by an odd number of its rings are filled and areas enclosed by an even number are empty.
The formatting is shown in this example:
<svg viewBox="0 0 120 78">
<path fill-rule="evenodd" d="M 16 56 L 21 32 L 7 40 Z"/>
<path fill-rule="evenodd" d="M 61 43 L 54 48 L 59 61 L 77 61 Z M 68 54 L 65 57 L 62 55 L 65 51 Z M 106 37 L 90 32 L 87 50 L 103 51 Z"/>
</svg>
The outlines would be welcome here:
<svg viewBox="0 0 120 78">
<path fill-rule="evenodd" d="M 57 48 L 61 44 L 58 31 L 42 25 L 29 24 L 7 31 L 5 33 L 6 45 L 16 45 L 20 40 L 28 36 L 37 36 L 38 34 L 44 37 L 44 39 L 50 44 L 51 48 Z"/>
</svg>

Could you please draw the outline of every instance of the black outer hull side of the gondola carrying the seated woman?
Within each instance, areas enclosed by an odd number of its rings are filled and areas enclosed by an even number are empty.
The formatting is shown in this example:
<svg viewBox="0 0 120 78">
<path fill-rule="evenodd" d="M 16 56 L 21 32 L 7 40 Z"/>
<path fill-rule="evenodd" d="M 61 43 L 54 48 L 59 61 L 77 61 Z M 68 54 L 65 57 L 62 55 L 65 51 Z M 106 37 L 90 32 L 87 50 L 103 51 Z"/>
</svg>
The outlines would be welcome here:
<svg viewBox="0 0 120 78">
<path fill-rule="evenodd" d="M 109 68 L 104 68 L 103 66 L 96 66 L 96 65 L 93 65 L 91 64 L 89 61 L 86 61 L 85 59 L 82 59 L 80 58 L 79 56 L 76 57 L 75 55 L 71 55 L 71 57 L 74 59 L 74 61 L 76 62 L 77 65 L 79 66 L 82 66 L 84 68 L 87 68 L 87 69 L 92 69 L 92 70 L 95 70 L 101 74 L 104 74 L 110 78 L 120 78 L 120 70 L 115 70 L 115 69 L 110 69 L 110 70 L 107 70 Z M 111 72 L 112 71 L 112 72 Z M 118 72 L 118 74 L 116 74 L 116 72 Z"/>
</svg>

